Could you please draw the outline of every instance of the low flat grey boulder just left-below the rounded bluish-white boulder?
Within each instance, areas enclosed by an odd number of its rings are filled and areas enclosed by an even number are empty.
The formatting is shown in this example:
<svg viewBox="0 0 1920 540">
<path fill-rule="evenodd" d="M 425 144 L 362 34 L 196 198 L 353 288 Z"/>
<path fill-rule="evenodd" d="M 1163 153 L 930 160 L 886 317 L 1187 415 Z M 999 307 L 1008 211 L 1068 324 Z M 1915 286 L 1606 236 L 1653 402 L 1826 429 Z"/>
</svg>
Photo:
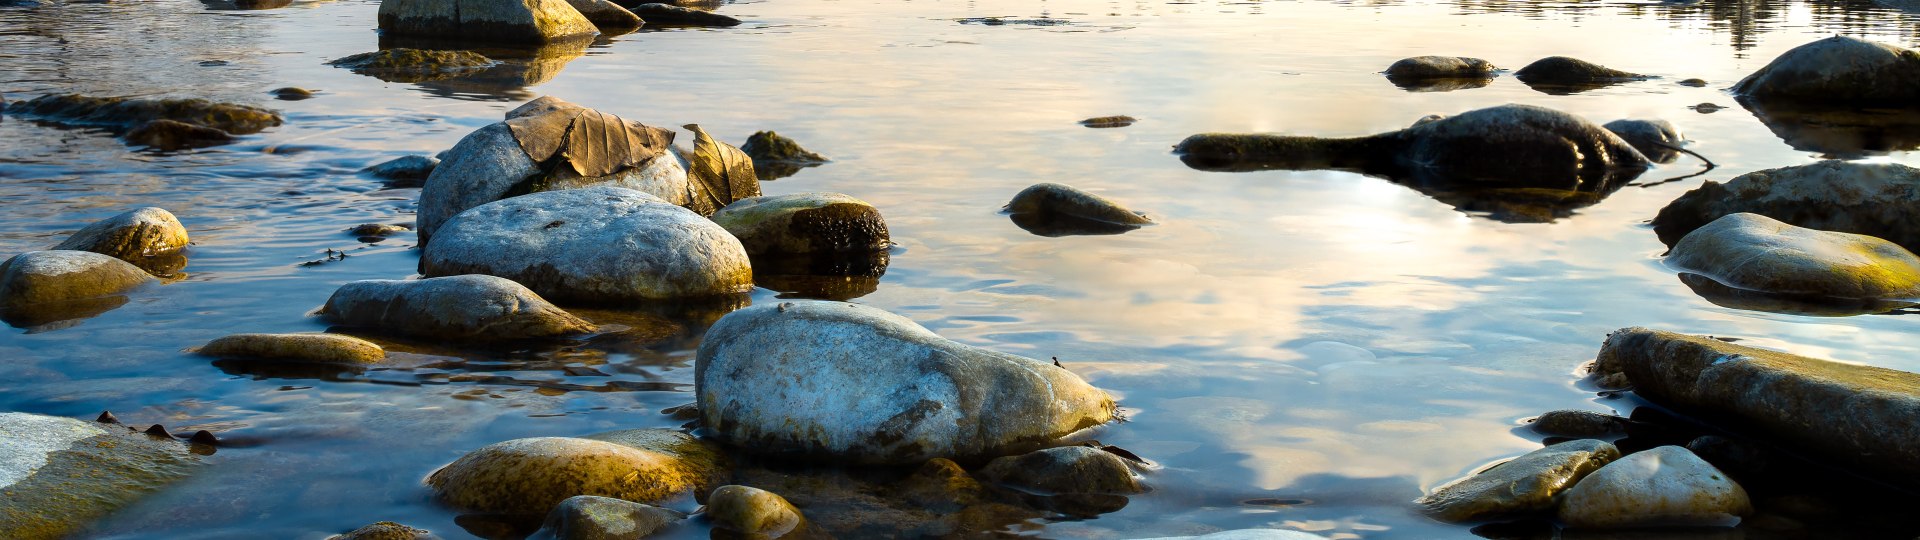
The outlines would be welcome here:
<svg viewBox="0 0 1920 540">
<path fill-rule="evenodd" d="M 428 338 L 555 338 L 593 332 L 593 323 L 492 275 L 342 284 L 321 307 L 326 319 Z"/>
</svg>

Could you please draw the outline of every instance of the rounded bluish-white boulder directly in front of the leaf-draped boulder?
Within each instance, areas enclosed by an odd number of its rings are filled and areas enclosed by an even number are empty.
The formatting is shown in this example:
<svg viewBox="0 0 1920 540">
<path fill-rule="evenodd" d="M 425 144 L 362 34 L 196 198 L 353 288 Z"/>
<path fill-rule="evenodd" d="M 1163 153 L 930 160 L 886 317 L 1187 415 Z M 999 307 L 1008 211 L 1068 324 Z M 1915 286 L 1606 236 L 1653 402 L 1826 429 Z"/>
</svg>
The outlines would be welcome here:
<svg viewBox="0 0 1920 540">
<path fill-rule="evenodd" d="M 693 300 L 753 288 L 726 229 L 657 196 L 589 186 L 482 204 L 420 254 L 420 273 L 495 275 L 557 302 Z"/>
</svg>

